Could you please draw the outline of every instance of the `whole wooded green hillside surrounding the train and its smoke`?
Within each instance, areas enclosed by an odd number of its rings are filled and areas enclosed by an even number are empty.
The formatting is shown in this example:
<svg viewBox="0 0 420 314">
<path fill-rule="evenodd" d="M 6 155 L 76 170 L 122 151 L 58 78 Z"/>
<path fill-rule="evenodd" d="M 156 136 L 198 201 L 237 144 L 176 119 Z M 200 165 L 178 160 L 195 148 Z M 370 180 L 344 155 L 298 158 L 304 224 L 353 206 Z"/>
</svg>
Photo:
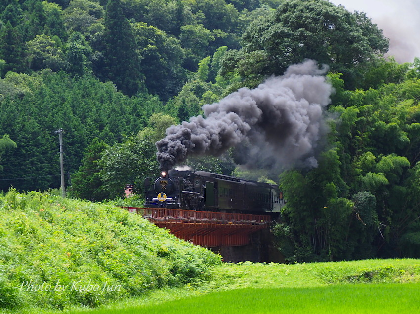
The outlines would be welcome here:
<svg viewBox="0 0 420 314">
<path fill-rule="evenodd" d="M 167 127 L 312 59 L 334 87 L 318 167 L 246 170 L 235 148 L 187 164 L 280 184 L 288 262 L 420 258 L 420 59 L 388 47 L 324 0 L 2 0 L 0 190 L 59 188 L 63 129 L 69 197 L 134 184 L 141 202 Z"/>
</svg>

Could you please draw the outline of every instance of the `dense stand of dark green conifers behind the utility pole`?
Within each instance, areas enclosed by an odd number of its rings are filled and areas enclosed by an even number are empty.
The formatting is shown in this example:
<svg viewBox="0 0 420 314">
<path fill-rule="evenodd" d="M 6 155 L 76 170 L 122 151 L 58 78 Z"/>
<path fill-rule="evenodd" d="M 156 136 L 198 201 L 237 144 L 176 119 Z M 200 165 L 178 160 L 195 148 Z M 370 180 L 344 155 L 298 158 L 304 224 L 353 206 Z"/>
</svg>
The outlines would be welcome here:
<svg viewBox="0 0 420 314">
<path fill-rule="evenodd" d="M 92 76 L 48 70 L 35 76 L 9 72 L 0 87 L 0 133 L 8 133 L 18 145 L 3 155 L 7 168 L 0 189 L 5 191 L 10 185 L 20 190 L 58 188 L 58 137 L 52 131 L 64 129 L 65 172 L 74 172 L 90 140 L 121 141 L 122 134 L 145 127 L 161 106 L 151 96 L 129 99 Z"/>
</svg>

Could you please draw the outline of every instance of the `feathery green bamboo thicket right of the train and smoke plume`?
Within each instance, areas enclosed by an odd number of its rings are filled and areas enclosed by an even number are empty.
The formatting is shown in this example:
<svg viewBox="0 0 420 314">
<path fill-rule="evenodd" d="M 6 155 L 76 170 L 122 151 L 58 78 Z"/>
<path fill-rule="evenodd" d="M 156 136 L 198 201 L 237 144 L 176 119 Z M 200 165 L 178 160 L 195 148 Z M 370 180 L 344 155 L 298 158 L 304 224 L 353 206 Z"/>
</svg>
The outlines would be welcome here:
<svg viewBox="0 0 420 314">
<path fill-rule="evenodd" d="M 320 162 L 281 178 L 288 200 L 282 217 L 295 246 L 287 257 L 418 256 L 417 79 L 345 91 L 340 78 L 331 78 L 340 95 L 329 108 L 339 115 L 329 138 L 335 153 L 321 154 L 328 168 Z"/>
</svg>

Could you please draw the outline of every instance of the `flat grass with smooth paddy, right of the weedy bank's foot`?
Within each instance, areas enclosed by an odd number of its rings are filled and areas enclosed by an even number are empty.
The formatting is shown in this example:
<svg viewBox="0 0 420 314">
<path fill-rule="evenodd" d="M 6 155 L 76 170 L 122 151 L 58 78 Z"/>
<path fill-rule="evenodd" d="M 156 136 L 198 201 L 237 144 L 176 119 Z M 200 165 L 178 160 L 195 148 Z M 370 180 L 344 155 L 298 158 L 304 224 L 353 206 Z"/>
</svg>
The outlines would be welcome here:
<svg viewBox="0 0 420 314">
<path fill-rule="evenodd" d="M 151 291 L 98 309 L 21 314 L 417 313 L 420 260 L 224 264 L 209 281 Z"/>
</svg>

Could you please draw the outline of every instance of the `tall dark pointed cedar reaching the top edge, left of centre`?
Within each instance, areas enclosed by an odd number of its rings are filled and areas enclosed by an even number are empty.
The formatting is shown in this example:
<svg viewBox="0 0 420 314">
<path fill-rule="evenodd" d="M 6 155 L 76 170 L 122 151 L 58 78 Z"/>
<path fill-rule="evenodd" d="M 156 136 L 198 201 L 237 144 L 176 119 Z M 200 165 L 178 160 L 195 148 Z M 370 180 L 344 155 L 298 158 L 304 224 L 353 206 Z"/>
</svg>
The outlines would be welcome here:
<svg viewBox="0 0 420 314">
<path fill-rule="evenodd" d="M 137 44 L 120 0 L 109 0 L 105 11 L 105 75 L 124 94 L 132 96 L 140 88 L 142 74 Z"/>
</svg>

